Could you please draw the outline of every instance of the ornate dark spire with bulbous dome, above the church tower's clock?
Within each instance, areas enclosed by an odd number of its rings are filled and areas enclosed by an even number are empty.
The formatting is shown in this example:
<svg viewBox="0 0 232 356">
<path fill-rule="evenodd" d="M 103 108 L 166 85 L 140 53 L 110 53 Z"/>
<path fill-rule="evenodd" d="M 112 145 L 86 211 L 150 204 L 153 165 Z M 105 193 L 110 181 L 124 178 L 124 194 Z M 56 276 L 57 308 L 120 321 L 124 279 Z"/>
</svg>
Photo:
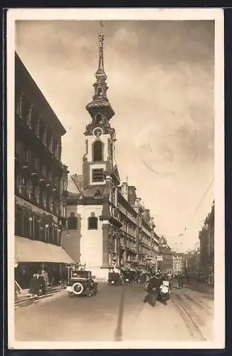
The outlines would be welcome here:
<svg viewBox="0 0 232 356">
<path fill-rule="evenodd" d="M 107 75 L 104 68 L 104 35 L 100 31 L 99 40 L 99 59 L 98 68 L 95 73 L 96 81 L 93 84 L 95 93 L 93 100 L 86 105 L 86 110 L 90 113 L 92 122 L 86 127 L 85 135 L 93 135 L 96 127 L 100 127 L 103 133 L 114 134 L 115 130 L 110 127 L 110 119 L 115 115 L 110 102 L 107 98 Z M 115 135 L 115 134 L 114 134 Z"/>
</svg>

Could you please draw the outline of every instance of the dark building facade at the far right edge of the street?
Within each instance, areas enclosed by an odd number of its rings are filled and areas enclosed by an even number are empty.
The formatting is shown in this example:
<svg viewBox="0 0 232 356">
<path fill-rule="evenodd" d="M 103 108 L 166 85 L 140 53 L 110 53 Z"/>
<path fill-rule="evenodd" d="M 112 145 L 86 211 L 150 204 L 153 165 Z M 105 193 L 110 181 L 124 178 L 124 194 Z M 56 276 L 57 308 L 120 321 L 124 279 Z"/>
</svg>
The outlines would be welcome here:
<svg viewBox="0 0 232 356">
<path fill-rule="evenodd" d="M 201 272 L 209 274 L 214 268 L 214 201 L 199 232 Z"/>
</svg>

